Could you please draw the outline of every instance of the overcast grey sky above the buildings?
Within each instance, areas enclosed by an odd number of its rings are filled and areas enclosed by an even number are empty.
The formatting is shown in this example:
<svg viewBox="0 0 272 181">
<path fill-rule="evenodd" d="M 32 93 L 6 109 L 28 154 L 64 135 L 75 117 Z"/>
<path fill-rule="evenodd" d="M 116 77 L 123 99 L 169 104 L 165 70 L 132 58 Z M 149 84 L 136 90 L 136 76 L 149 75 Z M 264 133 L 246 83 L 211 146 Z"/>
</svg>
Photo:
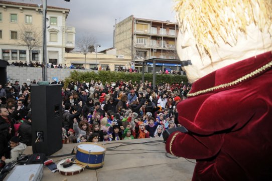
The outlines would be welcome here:
<svg viewBox="0 0 272 181">
<path fill-rule="evenodd" d="M 7 0 L 6 0 L 7 1 Z M 11 0 L 13 2 L 42 4 L 42 0 Z M 111 48 L 113 25 L 133 15 L 160 21 L 176 22 L 173 0 L 47 0 L 48 6 L 70 9 L 66 26 L 76 29 L 76 40 L 91 35 L 101 48 Z"/>
</svg>

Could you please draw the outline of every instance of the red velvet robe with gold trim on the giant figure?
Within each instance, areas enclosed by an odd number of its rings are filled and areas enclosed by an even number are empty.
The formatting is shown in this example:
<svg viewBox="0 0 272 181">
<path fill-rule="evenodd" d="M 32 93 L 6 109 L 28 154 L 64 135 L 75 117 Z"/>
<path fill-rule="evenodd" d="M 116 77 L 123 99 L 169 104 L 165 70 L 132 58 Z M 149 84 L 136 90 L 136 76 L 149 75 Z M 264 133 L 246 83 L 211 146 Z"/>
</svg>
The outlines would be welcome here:
<svg viewBox="0 0 272 181">
<path fill-rule="evenodd" d="M 272 180 L 271 52 L 208 74 L 193 93 L 200 94 L 177 106 L 189 133 L 174 132 L 166 144 L 168 152 L 197 160 L 192 180 Z"/>
</svg>

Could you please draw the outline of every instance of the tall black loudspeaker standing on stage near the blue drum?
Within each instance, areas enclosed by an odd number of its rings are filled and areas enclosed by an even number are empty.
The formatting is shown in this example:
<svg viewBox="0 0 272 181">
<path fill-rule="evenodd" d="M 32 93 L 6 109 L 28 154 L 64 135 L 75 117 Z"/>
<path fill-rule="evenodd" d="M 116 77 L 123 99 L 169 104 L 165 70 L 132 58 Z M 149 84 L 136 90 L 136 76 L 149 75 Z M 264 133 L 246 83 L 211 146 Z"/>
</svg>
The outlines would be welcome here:
<svg viewBox="0 0 272 181">
<path fill-rule="evenodd" d="M 46 156 L 62 148 L 61 85 L 31 84 L 32 151 Z"/>
</svg>

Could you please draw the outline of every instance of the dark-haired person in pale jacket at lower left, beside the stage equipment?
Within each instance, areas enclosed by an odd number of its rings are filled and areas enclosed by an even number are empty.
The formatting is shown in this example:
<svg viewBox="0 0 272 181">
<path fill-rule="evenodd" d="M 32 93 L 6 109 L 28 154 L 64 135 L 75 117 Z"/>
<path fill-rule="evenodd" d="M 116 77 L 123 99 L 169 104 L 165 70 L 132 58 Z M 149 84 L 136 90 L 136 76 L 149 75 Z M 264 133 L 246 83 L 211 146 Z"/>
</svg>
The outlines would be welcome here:
<svg viewBox="0 0 272 181">
<path fill-rule="evenodd" d="M 16 161 L 17 158 L 25 151 L 27 148 L 27 145 L 24 143 L 19 142 L 20 138 L 18 136 L 13 136 L 10 139 L 10 146 L 12 148 L 11 150 L 11 158 L 7 159 L 5 156 L 2 156 L 2 160 L 5 161 L 5 163 L 9 163 L 12 161 Z"/>
</svg>

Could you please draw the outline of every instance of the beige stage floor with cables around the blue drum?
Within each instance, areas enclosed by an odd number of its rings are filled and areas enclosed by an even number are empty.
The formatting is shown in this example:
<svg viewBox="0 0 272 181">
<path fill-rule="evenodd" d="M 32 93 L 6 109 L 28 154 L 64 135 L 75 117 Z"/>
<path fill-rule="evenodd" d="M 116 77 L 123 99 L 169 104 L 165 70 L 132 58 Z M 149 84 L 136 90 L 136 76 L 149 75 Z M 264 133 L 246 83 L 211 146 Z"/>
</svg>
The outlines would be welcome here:
<svg viewBox="0 0 272 181">
<path fill-rule="evenodd" d="M 185 158 L 169 158 L 165 153 L 165 143 L 162 138 L 145 138 L 134 140 L 120 140 L 98 142 L 104 143 L 106 148 L 119 146 L 114 150 L 107 150 L 104 165 L 99 169 L 84 169 L 76 175 L 62 175 L 59 172 L 51 172 L 44 168 L 43 181 L 73 180 L 73 181 L 113 181 L 113 180 L 164 180 L 164 181 L 189 181 L 192 179 L 195 160 Z M 53 146 L 53 145 L 52 145 Z M 54 155 L 71 153 L 77 144 L 63 144 L 61 150 Z M 28 146 L 24 154 L 32 154 L 32 147 Z M 169 156 L 172 156 L 168 154 Z M 173 156 L 172 156 L 173 157 Z M 65 157 L 52 158 L 57 164 L 58 160 Z"/>
</svg>

